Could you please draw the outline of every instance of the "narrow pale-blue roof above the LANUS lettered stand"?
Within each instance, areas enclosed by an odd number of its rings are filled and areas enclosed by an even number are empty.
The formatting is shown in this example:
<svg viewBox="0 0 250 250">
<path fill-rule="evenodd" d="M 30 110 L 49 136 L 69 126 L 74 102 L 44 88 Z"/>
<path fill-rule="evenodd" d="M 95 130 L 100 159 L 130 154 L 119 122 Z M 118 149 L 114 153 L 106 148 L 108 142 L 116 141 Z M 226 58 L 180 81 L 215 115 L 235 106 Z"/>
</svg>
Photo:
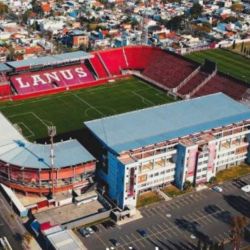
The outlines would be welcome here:
<svg viewBox="0 0 250 250">
<path fill-rule="evenodd" d="M 44 65 L 60 64 L 64 62 L 84 60 L 91 57 L 91 54 L 84 51 L 75 51 L 53 56 L 33 57 L 22 61 L 7 62 L 6 64 L 18 69 L 21 67 L 38 67 Z"/>
</svg>

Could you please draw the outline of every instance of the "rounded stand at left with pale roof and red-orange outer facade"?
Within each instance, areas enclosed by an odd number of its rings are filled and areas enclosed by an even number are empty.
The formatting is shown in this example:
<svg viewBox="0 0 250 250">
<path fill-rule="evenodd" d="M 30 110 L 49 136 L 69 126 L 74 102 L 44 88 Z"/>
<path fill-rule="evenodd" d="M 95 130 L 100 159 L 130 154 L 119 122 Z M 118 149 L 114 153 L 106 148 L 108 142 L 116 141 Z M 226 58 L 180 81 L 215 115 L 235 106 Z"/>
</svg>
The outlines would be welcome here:
<svg viewBox="0 0 250 250">
<path fill-rule="evenodd" d="M 36 194 L 57 193 L 91 184 L 95 158 L 77 140 L 55 143 L 55 155 L 51 155 L 51 145 L 29 142 L 2 113 L 0 131 L 1 183 Z"/>
</svg>

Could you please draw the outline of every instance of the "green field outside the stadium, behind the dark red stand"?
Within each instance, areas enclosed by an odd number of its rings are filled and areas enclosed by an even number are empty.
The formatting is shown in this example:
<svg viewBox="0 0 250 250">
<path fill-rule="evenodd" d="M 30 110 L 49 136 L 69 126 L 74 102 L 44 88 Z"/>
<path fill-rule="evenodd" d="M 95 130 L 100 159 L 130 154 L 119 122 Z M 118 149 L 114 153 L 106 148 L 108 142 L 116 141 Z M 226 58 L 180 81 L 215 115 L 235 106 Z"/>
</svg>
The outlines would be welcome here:
<svg viewBox="0 0 250 250">
<path fill-rule="evenodd" d="M 250 83 L 250 60 L 241 55 L 227 50 L 214 49 L 194 52 L 186 57 L 199 63 L 210 59 L 217 63 L 219 71 Z"/>
</svg>

